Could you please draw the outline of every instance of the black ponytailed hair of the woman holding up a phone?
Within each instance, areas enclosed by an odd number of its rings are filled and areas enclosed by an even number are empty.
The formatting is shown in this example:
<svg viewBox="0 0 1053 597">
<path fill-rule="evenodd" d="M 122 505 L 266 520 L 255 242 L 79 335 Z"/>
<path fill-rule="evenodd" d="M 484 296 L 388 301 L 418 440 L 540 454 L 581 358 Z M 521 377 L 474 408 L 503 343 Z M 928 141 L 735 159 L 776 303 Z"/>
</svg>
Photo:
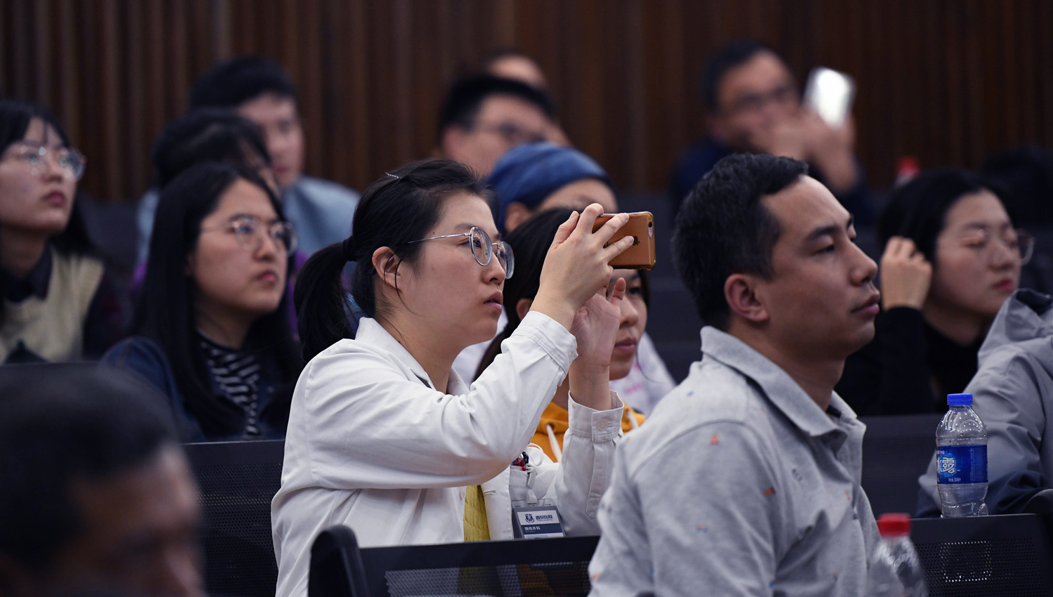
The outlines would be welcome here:
<svg viewBox="0 0 1053 597">
<path fill-rule="evenodd" d="M 352 224 L 351 242 L 333 243 L 303 264 L 296 278 L 294 302 L 309 361 L 342 338 L 354 338 L 351 304 L 340 274 L 344 263 L 357 262 L 352 280 L 355 303 L 367 317 L 384 317 L 374 288 L 373 253 L 389 246 L 400 262 L 413 263 L 420 255 L 420 240 L 441 216 L 443 200 L 455 193 L 477 195 L 485 201 L 491 193 L 466 166 L 451 160 L 411 162 L 376 180 L 362 194 Z M 344 245 L 351 255 L 345 255 Z"/>
</svg>

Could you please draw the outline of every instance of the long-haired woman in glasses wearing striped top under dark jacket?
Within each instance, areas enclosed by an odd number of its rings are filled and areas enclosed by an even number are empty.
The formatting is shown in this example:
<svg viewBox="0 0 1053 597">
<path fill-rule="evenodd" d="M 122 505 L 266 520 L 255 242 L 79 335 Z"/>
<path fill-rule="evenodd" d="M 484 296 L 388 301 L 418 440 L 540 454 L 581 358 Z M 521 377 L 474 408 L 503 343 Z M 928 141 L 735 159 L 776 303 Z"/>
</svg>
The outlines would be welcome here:
<svg viewBox="0 0 1053 597">
<path fill-rule="evenodd" d="M 285 434 L 302 367 L 285 317 L 296 233 L 255 173 L 221 163 L 161 193 L 136 334 L 103 357 L 171 403 L 183 441 Z"/>
</svg>

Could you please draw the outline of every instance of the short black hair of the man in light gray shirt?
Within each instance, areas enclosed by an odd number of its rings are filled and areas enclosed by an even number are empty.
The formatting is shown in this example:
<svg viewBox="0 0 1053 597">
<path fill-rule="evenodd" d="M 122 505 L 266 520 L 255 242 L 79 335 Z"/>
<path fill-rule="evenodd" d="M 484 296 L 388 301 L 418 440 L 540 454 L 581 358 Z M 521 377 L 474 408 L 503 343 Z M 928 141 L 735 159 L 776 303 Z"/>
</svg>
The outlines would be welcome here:
<svg viewBox="0 0 1053 597">
<path fill-rule="evenodd" d="M 717 162 L 688 194 L 676 217 L 673 261 L 703 325 L 727 330 L 724 281 L 732 274 L 772 275 L 781 227 L 761 202 L 808 174 L 802 161 L 735 154 Z"/>
</svg>

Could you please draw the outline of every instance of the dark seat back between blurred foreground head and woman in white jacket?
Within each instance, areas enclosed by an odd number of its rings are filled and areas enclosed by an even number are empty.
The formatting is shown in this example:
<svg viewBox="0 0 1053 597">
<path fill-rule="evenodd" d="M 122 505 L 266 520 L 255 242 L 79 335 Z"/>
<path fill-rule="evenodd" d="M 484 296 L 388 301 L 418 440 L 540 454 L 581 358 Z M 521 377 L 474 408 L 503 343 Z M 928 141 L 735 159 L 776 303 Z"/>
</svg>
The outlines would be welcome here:
<svg viewBox="0 0 1053 597">
<path fill-rule="evenodd" d="M 278 580 L 271 499 L 281 486 L 285 442 L 184 445 L 201 491 L 205 586 L 210 594 L 273 597 Z"/>
</svg>

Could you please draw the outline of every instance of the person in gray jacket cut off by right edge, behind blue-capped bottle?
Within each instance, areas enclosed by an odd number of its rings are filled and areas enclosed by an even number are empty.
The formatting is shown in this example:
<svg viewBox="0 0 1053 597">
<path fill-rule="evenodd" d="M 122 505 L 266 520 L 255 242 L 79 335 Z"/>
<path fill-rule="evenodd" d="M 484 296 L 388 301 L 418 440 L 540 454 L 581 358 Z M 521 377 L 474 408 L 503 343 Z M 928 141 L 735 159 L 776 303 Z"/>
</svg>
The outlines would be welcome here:
<svg viewBox="0 0 1053 597">
<path fill-rule="evenodd" d="M 1053 487 L 1053 298 L 1020 288 L 1001 305 L 966 392 L 988 432 L 987 504 L 1018 513 Z M 918 516 L 939 516 L 936 459 L 918 479 Z"/>
</svg>

